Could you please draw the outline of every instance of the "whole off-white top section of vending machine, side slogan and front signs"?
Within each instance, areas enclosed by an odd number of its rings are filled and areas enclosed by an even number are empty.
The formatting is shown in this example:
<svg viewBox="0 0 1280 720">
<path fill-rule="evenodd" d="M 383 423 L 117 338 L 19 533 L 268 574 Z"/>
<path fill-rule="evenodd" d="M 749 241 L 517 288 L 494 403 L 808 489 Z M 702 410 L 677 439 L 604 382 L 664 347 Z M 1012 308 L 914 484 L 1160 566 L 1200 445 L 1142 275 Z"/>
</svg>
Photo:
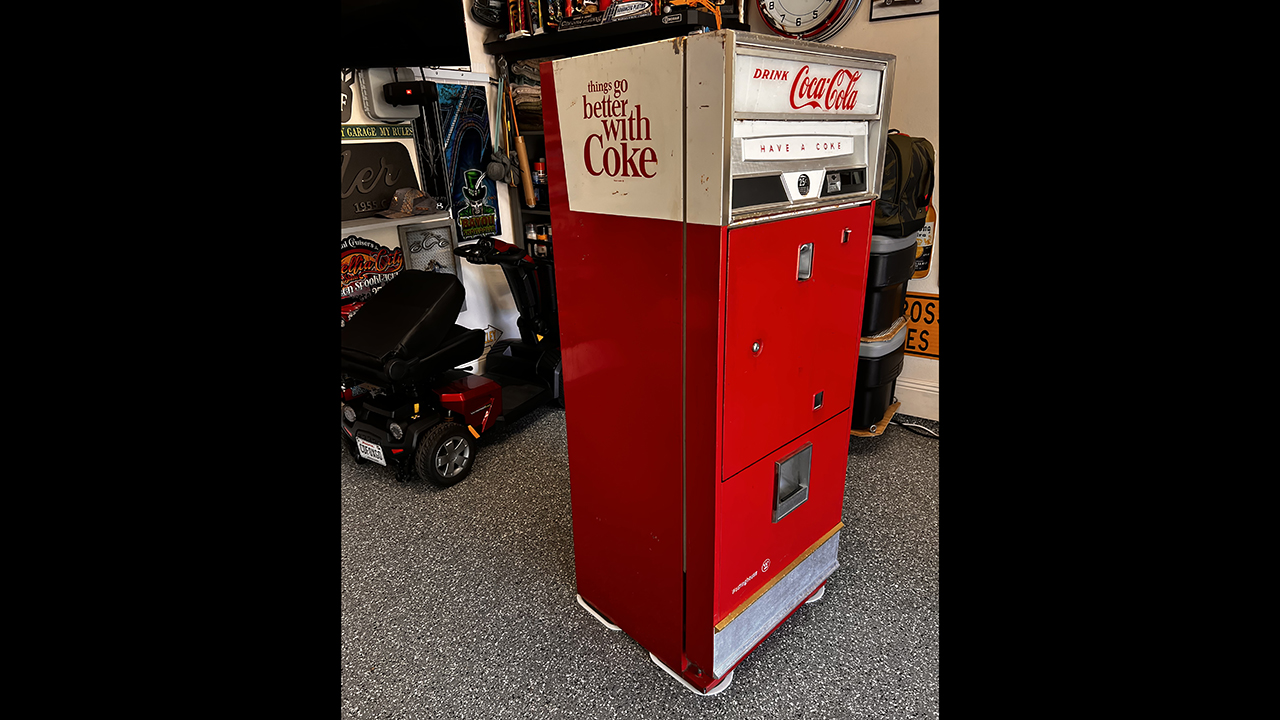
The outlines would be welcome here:
<svg viewBox="0 0 1280 720">
<path fill-rule="evenodd" d="M 568 206 L 726 225 L 870 202 L 893 67 L 728 29 L 553 60 Z"/>
</svg>

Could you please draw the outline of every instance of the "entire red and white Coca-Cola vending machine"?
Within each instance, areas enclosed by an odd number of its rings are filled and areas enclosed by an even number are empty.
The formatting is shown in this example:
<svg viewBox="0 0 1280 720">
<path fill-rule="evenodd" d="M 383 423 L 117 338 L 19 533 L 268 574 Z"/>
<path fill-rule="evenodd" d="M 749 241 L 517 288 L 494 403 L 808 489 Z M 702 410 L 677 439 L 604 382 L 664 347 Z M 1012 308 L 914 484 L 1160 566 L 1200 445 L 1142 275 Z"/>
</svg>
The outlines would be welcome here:
<svg viewBox="0 0 1280 720">
<path fill-rule="evenodd" d="M 838 568 L 892 55 L 541 65 L 579 602 L 696 693 Z"/>
</svg>

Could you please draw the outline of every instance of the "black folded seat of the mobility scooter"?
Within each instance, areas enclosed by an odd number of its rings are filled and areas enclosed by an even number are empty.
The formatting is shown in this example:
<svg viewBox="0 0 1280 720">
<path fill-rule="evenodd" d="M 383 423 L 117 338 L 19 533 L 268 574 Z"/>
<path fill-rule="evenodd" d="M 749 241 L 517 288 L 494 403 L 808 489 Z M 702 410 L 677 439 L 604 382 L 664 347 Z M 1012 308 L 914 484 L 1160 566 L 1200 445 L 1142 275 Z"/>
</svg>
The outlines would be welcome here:
<svg viewBox="0 0 1280 720">
<path fill-rule="evenodd" d="M 369 380 L 402 380 L 479 357 L 484 331 L 454 324 L 465 299 L 456 275 L 401 270 L 342 328 L 343 372 Z"/>
</svg>

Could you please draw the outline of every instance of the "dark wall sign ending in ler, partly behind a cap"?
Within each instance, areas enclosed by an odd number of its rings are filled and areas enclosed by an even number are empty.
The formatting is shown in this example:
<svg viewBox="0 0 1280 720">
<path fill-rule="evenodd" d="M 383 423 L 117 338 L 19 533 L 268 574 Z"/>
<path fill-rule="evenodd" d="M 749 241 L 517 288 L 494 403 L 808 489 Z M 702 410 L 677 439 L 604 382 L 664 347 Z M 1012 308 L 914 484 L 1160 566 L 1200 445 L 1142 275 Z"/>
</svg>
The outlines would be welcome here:
<svg viewBox="0 0 1280 720">
<path fill-rule="evenodd" d="M 358 128 L 353 128 L 356 131 Z M 343 128 L 346 135 L 348 128 Z M 342 143 L 342 219 L 372 218 L 402 187 L 419 188 L 403 142 Z"/>
</svg>

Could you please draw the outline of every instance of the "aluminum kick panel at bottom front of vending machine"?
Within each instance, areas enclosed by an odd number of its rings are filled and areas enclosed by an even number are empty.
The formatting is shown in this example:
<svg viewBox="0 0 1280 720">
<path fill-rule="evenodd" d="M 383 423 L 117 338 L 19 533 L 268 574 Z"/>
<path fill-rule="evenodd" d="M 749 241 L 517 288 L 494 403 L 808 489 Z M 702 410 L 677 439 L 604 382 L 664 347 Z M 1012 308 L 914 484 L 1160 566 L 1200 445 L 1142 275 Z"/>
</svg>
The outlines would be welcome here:
<svg viewBox="0 0 1280 720">
<path fill-rule="evenodd" d="M 719 678 L 736 665 L 744 655 L 840 568 L 840 562 L 836 560 L 838 547 L 840 533 L 837 532 L 769 588 L 769 592 L 760 596 L 724 629 L 716 633 L 712 667 L 714 676 Z"/>
</svg>

